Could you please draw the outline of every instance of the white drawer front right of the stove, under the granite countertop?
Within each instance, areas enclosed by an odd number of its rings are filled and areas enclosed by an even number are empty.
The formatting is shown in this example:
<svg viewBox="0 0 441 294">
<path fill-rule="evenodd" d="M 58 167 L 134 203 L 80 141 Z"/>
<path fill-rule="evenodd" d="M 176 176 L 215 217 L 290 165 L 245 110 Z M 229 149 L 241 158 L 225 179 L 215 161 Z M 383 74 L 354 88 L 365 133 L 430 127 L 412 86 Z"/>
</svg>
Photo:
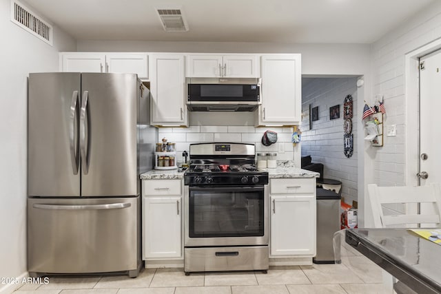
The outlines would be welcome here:
<svg viewBox="0 0 441 294">
<path fill-rule="evenodd" d="M 310 194 L 315 192 L 315 178 L 273 178 L 269 180 L 270 194 Z"/>
</svg>

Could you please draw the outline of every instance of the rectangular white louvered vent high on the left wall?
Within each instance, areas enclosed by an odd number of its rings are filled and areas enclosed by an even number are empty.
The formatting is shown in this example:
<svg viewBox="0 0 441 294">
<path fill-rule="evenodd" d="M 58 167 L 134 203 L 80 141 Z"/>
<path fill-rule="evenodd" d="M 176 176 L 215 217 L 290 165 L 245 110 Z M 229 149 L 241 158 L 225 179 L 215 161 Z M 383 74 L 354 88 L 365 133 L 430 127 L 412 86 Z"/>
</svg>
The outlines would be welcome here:
<svg viewBox="0 0 441 294">
<path fill-rule="evenodd" d="M 11 21 L 52 45 L 52 25 L 17 0 L 11 1 Z"/>
</svg>

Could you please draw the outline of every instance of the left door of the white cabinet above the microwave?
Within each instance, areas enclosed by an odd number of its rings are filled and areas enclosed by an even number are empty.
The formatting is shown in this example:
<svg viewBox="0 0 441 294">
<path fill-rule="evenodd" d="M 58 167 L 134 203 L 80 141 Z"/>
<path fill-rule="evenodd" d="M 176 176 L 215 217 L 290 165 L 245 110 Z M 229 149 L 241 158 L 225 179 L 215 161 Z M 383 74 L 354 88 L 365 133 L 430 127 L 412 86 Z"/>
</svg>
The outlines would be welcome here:
<svg viewBox="0 0 441 294">
<path fill-rule="evenodd" d="M 222 76 L 222 56 L 188 55 L 188 77 L 216 78 Z"/>
</svg>

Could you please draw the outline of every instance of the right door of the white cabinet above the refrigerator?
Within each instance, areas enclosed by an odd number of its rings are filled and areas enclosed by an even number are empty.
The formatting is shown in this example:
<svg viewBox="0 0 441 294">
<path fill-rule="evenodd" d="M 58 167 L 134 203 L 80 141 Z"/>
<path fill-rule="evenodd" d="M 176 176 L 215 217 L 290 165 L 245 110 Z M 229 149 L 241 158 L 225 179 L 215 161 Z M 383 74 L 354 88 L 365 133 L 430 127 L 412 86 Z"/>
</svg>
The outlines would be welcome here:
<svg viewBox="0 0 441 294">
<path fill-rule="evenodd" d="M 148 78 L 147 54 L 106 54 L 107 72 L 138 74 Z"/>
</svg>

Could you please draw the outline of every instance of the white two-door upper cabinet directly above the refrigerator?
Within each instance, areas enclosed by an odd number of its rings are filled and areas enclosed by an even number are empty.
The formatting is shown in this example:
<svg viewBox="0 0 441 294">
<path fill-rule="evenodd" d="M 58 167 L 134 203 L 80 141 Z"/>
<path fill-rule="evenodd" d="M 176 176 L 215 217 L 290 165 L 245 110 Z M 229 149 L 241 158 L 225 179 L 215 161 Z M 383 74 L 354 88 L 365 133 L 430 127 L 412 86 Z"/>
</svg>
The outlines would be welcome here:
<svg viewBox="0 0 441 294">
<path fill-rule="evenodd" d="M 148 78 L 147 54 L 61 52 L 61 72 L 123 72 Z"/>
</svg>

